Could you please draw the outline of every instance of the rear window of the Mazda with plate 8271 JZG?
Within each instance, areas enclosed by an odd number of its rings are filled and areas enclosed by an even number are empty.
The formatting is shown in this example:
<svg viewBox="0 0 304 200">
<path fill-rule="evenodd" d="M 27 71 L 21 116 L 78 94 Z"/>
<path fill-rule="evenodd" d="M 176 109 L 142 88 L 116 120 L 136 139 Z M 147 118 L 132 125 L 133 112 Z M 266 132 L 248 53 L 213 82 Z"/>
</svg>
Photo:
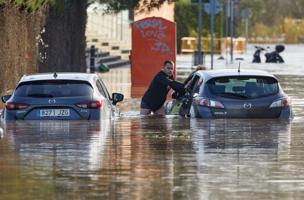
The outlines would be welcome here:
<svg viewBox="0 0 304 200">
<path fill-rule="evenodd" d="M 40 80 L 19 84 L 15 95 L 19 97 L 76 97 L 92 95 L 93 88 L 87 81 Z"/>
</svg>

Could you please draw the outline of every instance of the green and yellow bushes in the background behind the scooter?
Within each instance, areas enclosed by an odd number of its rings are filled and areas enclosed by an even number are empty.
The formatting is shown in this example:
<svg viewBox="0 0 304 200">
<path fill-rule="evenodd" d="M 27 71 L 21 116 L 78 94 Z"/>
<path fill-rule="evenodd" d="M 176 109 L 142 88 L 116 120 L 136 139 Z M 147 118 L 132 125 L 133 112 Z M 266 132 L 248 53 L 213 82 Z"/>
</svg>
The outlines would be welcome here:
<svg viewBox="0 0 304 200">
<path fill-rule="evenodd" d="M 220 0 L 223 4 L 225 0 Z M 303 42 L 304 1 L 303 0 L 239 0 L 239 11 L 250 8 L 248 38 L 252 42 Z M 235 20 L 235 37 L 245 36 L 245 19 Z"/>
</svg>

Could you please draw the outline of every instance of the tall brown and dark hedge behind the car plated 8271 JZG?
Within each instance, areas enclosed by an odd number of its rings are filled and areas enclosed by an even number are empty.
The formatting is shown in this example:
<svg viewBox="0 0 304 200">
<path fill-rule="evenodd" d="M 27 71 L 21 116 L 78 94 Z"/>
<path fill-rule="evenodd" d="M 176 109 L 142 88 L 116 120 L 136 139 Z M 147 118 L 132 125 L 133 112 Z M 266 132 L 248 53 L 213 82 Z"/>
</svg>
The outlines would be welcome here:
<svg viewBox="0 0 304 200">
<path fill-rule="evenodd" d="M 24 74 L 86 71 L 87 2 L 52 2 L 0 0 L 0 93 Z"/>
</svg>

